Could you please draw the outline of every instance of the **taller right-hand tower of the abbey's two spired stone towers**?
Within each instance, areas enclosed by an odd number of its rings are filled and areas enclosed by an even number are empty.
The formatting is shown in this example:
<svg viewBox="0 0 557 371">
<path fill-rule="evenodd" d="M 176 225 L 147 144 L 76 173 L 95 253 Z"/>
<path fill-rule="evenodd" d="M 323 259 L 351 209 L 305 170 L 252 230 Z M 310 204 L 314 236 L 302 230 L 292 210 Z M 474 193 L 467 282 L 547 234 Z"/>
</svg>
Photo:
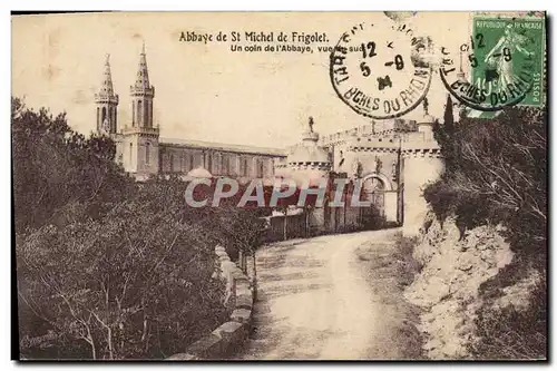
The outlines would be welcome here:
<svg viewBox="0 0 557 371">
<path fill-rule="evenodd" d="M 121 157 L 124 169 L 139 176 L 157 174 L 158 126 L 153 120 L 155 87 L 149 82 L 145 43 L 139 55 L 136 81 L 129 89 L 131 97 L 131 123 L 121 131 Z"/>
</svg>

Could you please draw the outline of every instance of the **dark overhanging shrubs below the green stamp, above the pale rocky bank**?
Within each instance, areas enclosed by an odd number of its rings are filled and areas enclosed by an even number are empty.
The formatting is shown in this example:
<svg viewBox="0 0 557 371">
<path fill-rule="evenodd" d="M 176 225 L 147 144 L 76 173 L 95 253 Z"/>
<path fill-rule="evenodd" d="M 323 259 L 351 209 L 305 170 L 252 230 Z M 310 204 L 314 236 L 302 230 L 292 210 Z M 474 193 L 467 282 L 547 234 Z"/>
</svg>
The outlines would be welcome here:
<svg viewBox="0 0 557 371">
<path fill-rule="evenodd" d="M 462 117 L 453 133 L 436 126 L 446 172 L 424 197 L 438 217 L 456 214 L 465 228 L 501 223 L 515 251 L 544 255 L 546 119 L 539 109 L 511 107 L 495 119 Z M 545 258 L 539 263 L 545 265 Z"/>
</svg>

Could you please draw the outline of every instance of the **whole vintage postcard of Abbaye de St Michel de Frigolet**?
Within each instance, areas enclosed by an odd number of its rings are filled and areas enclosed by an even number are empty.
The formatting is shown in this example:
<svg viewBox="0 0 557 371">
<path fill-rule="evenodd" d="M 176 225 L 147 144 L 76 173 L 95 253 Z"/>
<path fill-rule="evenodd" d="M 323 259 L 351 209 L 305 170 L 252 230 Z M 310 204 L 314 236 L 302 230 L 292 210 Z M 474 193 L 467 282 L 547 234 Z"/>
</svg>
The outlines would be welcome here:
<svg viewBox="0 0 557 371">
<path fill-rule="evenodd" d="M 546 21 L 12 14 L 12 358 L 546 361 Z"/>
</svg>

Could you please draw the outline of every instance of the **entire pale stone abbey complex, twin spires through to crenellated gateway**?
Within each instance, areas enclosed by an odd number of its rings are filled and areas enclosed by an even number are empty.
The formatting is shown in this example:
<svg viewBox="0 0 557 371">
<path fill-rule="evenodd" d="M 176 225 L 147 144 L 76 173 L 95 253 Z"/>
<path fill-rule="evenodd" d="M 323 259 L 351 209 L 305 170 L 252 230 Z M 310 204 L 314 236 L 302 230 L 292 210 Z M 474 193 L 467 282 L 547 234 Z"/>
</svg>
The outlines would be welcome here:
<svg viewBox="0 0 557 371">
<path fill-rule="evenodd" d="M 293 178 L 299 186 L 319 184 L 321 178 L 344 177 L 363 183 L 363 194 L 380 217 L 403 225 L 410 234 L 421 226 L 427 212 L 422 191 L 443 170 L 440 149 L 433 138 L 434 118 L 370 121 L 320 137 L 309 119 L 302 140 L 286 149 L 261 148 L 160 138 L 154 113 L 155 87 L 149 81 L 145 47 L 130 86 L 131 121 L 118 121 L 115 94 L 107 58 L 102 85 L 95 95 L 97 130 L 109 134 L 117 144 L 116 160 L 138 180 L 152 175 L 175 174 L 188 177 Z M 342 124 L 342 126 L 346 126 Z M 350 230 L 365 224 L 371 208 L 345 207 L 313 209 L 310 224 L 319 232 Z"/>
</svg>

